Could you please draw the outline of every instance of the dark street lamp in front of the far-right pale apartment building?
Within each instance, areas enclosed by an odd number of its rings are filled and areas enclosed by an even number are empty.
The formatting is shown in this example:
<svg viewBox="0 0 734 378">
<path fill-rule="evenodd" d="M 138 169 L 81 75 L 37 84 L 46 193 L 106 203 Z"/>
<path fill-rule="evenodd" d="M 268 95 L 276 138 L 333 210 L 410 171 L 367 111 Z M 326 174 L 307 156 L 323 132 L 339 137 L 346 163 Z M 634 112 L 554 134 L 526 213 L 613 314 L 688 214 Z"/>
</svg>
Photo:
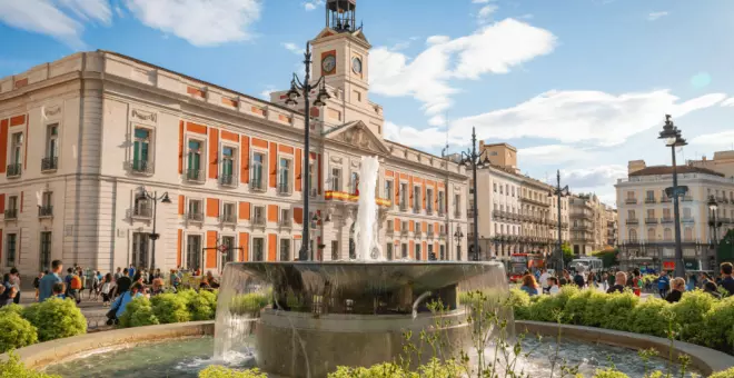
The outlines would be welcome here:
<svg viewBox="0 0 734 378">
<path fill-rule="evenodd" d="M 665 126 L 659 132 L 657 139 L 665 140 L 665 146 L 671 148 L 673 157 L 673 187 L 665 189 L 668 197 L 673 197 L 673 213 L 675 217 L 675 277 L 685 277 L 685 266 L 683 263 L 683 247 L 681 246 L 681 210 L 678 209 L 680 197 L 685 196 L 687 187 L 678 188 L 678 173 L 675 163 L 675 148 L 687 145 L 681 137 L 681 130 L 671 120 L 671 115 L 665 115 Z"/>
</svg>

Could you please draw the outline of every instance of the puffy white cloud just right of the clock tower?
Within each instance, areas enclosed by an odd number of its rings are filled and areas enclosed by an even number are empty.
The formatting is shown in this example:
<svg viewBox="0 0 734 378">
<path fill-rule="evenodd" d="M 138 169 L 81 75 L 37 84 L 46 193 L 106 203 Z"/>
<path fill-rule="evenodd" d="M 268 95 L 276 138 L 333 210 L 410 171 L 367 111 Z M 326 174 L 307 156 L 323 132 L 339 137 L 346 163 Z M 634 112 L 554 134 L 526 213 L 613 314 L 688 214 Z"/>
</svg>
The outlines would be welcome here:
<svg viewBox="0 0 734 378">
<path fill-rule="evenodd" d="M 370 53 L 370 86 L 375 93 L 411 96 L 428 115 L 452 105 L 458 89 L 452 79 L 478 79 L 485 73 L 507 73 L 510 67 L 549 53 L 556 38 L 547 30 L 506 19 L 457 39 L 433 36 L 428 48 L 414 59 L 385 47 Z"/>
</svg>

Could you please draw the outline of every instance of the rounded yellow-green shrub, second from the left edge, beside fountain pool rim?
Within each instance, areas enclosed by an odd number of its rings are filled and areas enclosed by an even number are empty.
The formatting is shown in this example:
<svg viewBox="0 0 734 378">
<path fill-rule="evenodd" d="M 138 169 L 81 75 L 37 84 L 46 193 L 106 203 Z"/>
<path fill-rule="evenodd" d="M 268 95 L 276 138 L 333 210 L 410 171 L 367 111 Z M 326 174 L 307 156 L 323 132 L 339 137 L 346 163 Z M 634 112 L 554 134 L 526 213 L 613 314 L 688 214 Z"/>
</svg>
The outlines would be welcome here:
<svg viewBox="0 0 734 378">
<path fill-rule="evenodd" d="M 38 340 L 49 341 L 87 332 L 87 319 L 71 299 L 51 298 L 23 309 L 23 318 L 38 329 Z"/>
</svg>

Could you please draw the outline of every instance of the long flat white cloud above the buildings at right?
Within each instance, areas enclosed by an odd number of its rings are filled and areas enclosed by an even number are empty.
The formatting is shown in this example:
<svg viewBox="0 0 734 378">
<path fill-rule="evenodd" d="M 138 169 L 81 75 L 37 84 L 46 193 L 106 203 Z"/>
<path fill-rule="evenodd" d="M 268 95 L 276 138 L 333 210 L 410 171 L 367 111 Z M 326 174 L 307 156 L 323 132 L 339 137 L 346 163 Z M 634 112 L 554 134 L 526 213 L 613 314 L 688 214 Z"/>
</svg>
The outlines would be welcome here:
<svg viewBox="0 0 734 378">
<path fill-rule="evenodd" d="M 724 100 L 711 93 L 681 102 L 668 90 L 611 94 L 601 91 L 548 91 L 507 109 L 456 120 L 452 133 L 507 140 L 546 138 L 564 143 L 615 146 L 662 125 L 666 113 L 681 117 Z"/>
</svg>

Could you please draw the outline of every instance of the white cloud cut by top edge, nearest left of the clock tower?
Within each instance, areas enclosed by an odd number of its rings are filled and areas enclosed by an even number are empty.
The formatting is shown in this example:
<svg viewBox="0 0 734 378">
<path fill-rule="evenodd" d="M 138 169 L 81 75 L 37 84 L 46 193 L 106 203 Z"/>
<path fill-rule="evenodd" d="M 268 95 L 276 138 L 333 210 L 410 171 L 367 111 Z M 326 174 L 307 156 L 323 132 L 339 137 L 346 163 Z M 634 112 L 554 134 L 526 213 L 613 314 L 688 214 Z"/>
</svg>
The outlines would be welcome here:
<svg viewBox="0 0 734 378">
<path fill-rule="evenodd" d="M 125 3 L 146 26 L 198 47 L 251 39 L 248 29 L 261 11 L 260 0 L 125 0 Z"/>
</svg>

